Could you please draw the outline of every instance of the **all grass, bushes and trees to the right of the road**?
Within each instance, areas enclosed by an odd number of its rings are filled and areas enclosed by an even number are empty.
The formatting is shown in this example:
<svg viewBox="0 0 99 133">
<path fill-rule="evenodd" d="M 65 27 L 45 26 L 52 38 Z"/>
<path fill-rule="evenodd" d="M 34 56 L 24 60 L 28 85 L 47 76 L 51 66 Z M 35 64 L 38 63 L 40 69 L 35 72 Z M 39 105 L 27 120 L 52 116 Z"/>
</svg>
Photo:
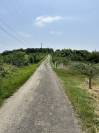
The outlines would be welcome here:
<svg viewBox="0 0 99 133">
<path fill-rule="evenodd" d="M 56 50 L 53 67 L 60 77 L 83 131 L 99 132 L 99 52 Z"/>
</svg>

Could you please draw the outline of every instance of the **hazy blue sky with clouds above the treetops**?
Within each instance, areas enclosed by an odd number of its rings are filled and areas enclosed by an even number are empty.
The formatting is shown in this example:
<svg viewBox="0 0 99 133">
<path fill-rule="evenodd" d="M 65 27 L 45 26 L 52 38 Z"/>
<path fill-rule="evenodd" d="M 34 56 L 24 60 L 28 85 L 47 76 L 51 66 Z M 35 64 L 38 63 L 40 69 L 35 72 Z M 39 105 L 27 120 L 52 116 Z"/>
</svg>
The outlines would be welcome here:
<svg viewBox="0 0 99 133">
<path fill-rule="evenodd" d="M 99 0 L 0 0 L 0 52 L 99 50 Z"/>
</svg>

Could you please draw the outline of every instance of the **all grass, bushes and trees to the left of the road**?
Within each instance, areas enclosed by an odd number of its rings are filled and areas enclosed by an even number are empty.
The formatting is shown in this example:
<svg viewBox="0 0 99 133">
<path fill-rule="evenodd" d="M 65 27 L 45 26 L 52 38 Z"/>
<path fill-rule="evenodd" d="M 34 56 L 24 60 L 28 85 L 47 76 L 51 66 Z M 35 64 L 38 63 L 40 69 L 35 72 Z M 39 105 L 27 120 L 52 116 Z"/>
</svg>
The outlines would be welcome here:
<svg viewBox="0 0 99 133">
<path fill-rule="evenodd" d="M 19 49 L 0 54 L 0 105 L 34 73 L 52 49 Z"/>
</svg>

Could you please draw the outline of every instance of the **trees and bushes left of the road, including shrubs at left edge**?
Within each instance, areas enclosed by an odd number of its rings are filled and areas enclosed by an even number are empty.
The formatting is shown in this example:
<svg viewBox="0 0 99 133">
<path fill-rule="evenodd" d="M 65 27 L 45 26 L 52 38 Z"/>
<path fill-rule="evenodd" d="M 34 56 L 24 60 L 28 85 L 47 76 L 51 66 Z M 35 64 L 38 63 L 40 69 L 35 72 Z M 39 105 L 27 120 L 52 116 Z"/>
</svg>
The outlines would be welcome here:
<svg viewBox="0 0 99 133">
<path fill-rule="evenodd" d="M 0 54 L 0 77 L 8 73 L 8 65 L 24 67 L 41 61 L 47 54 L 53 53 L 53 49 L 28 48 L 12 51 L 4 51 Z"/>
</svg>

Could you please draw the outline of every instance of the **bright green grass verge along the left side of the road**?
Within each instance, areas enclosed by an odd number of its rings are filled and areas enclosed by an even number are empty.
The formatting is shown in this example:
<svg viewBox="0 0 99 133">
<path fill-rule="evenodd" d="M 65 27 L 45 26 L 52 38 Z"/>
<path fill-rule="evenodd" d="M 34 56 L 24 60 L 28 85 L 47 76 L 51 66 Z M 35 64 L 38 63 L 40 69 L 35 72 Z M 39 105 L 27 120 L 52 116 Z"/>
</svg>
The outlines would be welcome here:
<svg viewBox="0 0 99 133">
<path fill-rule="evenodd" d="M 0 79 L 0 105 L 3 101 L 13 95 L 17 89 L 33 74 L 38 64 L 9 70 L 9 73 Z"/>
</svg>

